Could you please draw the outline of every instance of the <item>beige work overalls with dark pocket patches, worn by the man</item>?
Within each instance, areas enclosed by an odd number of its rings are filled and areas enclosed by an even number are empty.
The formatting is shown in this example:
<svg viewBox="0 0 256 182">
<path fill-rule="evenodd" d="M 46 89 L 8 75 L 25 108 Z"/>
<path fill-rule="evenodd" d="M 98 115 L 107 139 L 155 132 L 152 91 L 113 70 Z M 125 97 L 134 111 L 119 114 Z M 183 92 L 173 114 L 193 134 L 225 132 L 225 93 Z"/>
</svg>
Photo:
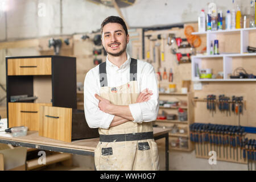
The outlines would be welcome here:
<svg viewBox="0 0 256 182">
<path fill-rule="evenodd" d="M 137 60 L 131 59 L 137 64 Z M 137 67 L 136 67 L 137 73 Z M 100 96 L 114 105 L 129 105 L 136 102 L 139 95 L 137 80 L 118 87 L 101 86 Z M 100 129 L 100 135 L 148 133 L 151 122 L 135 123 L 128 121 L 108 130 Z M 118 139 L 117 139 L 118 140 Z M 123 140 L 98 143 L 94 152 L 97 170 L 159 170 L 158 147 L 154 139 Z"/>
</svg>

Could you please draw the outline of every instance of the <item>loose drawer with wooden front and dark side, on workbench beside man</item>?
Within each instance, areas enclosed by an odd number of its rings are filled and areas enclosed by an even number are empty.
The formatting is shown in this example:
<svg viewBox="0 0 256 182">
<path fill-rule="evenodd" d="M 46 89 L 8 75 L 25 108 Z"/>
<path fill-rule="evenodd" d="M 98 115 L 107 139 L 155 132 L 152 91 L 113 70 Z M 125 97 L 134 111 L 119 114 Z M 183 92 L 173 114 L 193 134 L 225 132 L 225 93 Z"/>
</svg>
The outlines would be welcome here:
<svg viewBox="0 0 256 182">
<path fill-rule="evenodd" d="M 84 110 L 40 106 L 39 115 L 39 136 L 41 137 L 64 142 L 99 137 L 98 129 L 90 129 L 87 125 Z"/>
</svg>

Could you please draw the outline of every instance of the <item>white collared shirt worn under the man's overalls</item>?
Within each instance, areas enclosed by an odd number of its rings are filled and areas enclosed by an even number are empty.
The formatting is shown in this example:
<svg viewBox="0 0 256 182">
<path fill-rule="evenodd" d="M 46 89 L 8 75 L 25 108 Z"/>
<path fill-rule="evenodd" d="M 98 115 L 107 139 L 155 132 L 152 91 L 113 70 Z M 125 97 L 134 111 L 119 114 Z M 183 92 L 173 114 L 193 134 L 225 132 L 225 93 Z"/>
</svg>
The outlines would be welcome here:
<svg viewBox="0 0 256 182">
<path fill-rule="evenodd" d="M 108 60 L 108 56 L 106 57 L 106 73 L 109 87 L 121 86 L 130 81 L 130 61 L 130 56 L 127 53 L 127 60 L 118 68 L 117 65 Z M 129 105 L 131 115 L 134 118 L 133 122 L 155 121 L 159 110 L 158 82 L 154 67 L 146 61 L 138 60 L 137 62 L 137 82 L 139 92 L 148 88 L 148 90 L 152 90 L 153 94 L 147 102 Z M 108 129 L 114 115 L 104 113 L 98 107 L 99 101 L 94 94 L 100 96 L 100 88 L 100 72 L 99 65 L 97 65 L 90 69 L 84 80 L 85 118 L 91 128 Z"/>
</svg>

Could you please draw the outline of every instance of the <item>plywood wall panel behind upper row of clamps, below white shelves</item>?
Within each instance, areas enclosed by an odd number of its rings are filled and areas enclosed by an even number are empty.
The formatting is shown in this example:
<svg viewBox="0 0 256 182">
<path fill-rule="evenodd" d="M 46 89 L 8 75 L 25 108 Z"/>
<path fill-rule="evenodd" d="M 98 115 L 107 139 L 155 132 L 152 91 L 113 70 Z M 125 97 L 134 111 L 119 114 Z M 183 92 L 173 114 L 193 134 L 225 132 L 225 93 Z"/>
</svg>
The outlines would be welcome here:
<svg viewBox="0 0 256 182">
<path fill-rule="evenodd" d="M 254 82 L 209 82 L 205 83 L 203 90 L 196 91 L 195 97 L 206 98 L 208 94 L 214 94 L 217 97 L 220 94 L 225 96 L 243 96 L 246 100 L 246 110 L 240 115 L 240 123 L 242 126 L 256 126 L 256 85 Z M 231 106 L 231 105 L 230 105 Z M 216 113 L 207 110 L 206 102 L 196 102 L 195 105 L 195 122 L 215 123 L 221 125 L 238 125 L 239 117 L 234 113 L 221 113 L 216 109 Z"/>
</svg>

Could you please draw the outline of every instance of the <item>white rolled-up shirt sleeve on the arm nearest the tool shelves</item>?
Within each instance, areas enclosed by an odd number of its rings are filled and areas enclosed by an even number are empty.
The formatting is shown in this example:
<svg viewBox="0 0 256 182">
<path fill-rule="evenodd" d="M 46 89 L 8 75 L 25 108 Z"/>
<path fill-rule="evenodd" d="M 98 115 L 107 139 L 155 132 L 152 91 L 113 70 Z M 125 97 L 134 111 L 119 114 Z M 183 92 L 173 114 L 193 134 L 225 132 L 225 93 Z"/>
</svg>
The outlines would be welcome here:
<svg viewBox="0 0 256 182">
<path fill-rule="evenodd" d="M 140 102 L 130 104 L 129 109 L 131 115 L 133 115 L 133 122 L 150 122 L 155 121 L 158 116 L 159 110 L 159 93 L 158 93 L 158 80 L 154 71 L 154 67 L 151 64 L 146 65 L 142 69 L 140 76 L 140 90 L 148 89 L 152 90 L 151 99 L 147 102 Z"/>
</svg>

